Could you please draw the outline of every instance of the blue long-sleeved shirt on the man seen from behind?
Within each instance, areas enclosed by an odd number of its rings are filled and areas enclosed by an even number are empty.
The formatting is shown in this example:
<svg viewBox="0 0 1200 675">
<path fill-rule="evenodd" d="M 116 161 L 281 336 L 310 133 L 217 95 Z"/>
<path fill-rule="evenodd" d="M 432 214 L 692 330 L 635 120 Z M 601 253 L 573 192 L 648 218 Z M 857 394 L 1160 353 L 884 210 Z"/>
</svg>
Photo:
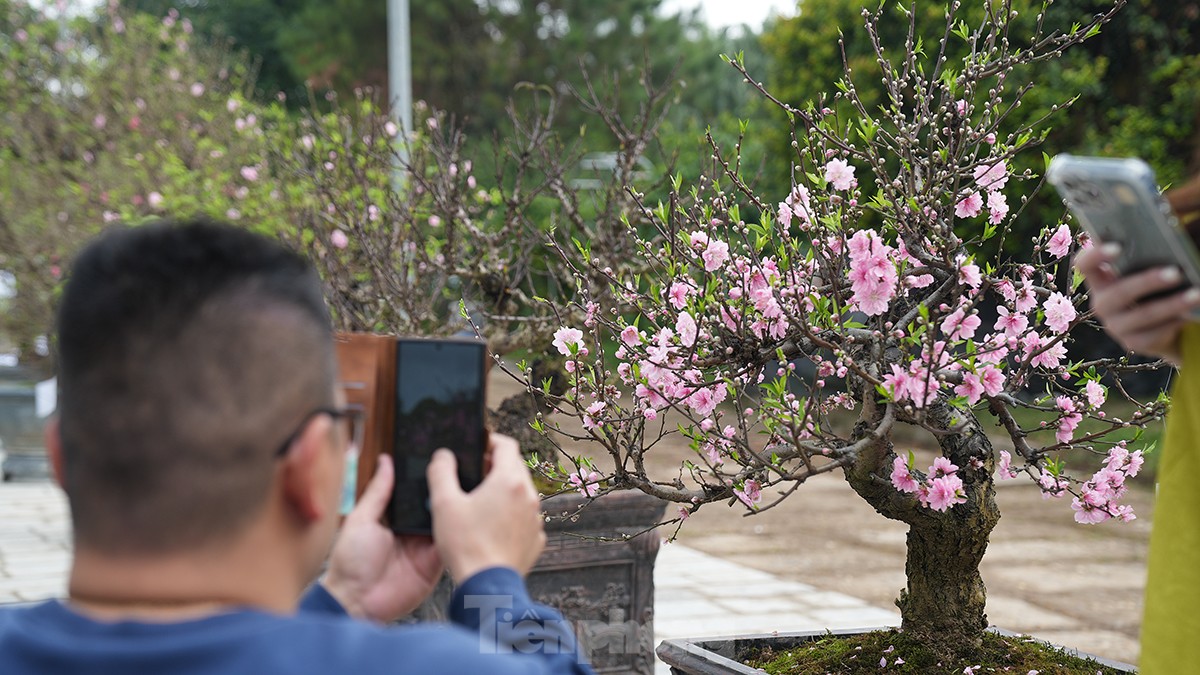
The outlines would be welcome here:
<svg viewBox="0 0 1200 675">
<path fill-rule="evenodd" d="M 0 609 L 4 675 L 577 674 L 592 668 L 570 627 L 534 604 L 512 569 L 480 572 L 450 603 L 451 623 L 350 619 L 320 586 L 281 616 L 232 610 L 193 621 L 95 621 L 59 601 Z"/>
</svg>

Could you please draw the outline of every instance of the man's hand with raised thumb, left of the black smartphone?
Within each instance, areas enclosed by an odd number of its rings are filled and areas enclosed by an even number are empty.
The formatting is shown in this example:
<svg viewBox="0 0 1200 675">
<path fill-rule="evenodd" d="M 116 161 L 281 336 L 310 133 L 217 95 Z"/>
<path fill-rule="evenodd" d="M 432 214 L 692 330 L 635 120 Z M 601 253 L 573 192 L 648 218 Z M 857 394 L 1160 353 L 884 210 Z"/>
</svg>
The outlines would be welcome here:
<svg viewBox="0 0 1200 675">
<path fill-rule="evenodd" d="M 442 578 L 430 537 L 397 537 L 379 524 L 394 482 L 391 458 L 379 455 L 374 478 L 346 516 L 330 555 L 325 589 L 358 619 L 394 621 L 421 604 Z"/>
</svg>

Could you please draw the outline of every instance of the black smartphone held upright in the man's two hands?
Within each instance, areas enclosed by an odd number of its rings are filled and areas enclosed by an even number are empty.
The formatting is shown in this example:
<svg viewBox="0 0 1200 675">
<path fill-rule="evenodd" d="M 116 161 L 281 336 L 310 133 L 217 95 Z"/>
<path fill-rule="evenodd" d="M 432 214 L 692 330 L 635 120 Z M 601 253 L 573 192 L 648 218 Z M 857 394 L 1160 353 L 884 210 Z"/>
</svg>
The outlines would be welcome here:
<svg viewBox="0 0 1200 675">
<path fill-rule="evenodd" d="M 472 339 L 396 340 L 396 424 L 392 459 L 396 485 L 389 520 L 400 533 L 430 533 L 430 486 L 425 470 L 433 450 L 458 459 L 458 482 L 473 490 L 484 480 L 486 345 Z"/>
</svg>

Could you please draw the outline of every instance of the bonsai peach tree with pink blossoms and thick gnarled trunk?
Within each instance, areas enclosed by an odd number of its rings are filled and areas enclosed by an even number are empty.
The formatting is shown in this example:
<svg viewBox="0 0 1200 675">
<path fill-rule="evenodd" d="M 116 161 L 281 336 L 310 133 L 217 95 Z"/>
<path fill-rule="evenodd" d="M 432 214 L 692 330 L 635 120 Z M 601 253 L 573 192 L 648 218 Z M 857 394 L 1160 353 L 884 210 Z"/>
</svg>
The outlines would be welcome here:
<svg viewBox="0 0 1200 675">
<path fill-rule="evenodd" d="M 1136 431 L 1165 411 L 1162 396 L 1133 401 L 1128 418 L 1103 410 L 1129 398 L 1123 375 L 1162 364 L 1067 359 L 1091 322 L 1069 265 L 1090 243 L 1066 215 L 1040 228 L 1031 258 L 991 257 L 1040 184 L 1013 168 L 1048 121 L 1019 110 L 1022 77 L 1122 5 L 1056 31 L 1049 2 L 1027 18 L 1013 0 L 990 2 L 974 23 L 953 2 L 934 38 L 914 8 L 864 10 L 877 72 L 847 67 L 806 104 L 763 90 L 792 123 L 790 193 L 758 193 L 736 150 L 713 143 L 707 175 L 640 199 L 648 225 L 626 229 L 636 265 L 551 241 L 576 285 L 569 303 L 547 300 L 563 317 L 553 345 L 568 388 L 554 396 L 526 364 L 514 375 L 575 424 L 534 423 L 570 458 L 540 468 L 588 496 L 676 502 L 674 524 L 712 502 L 767 509 L 840 471 L 908 526 L 904 629 L 952 651 L 978 645 L 994 482 L 1032 479 L 1080 522 L 1130 520 L 1121 497 L 1142 464 Z M 907 36 L 889 50 L 880 32 L 898 18 Z M 859 97 L 864 77 L 882 78 L 877 108 Z M 988 305 L 997 316 L 985 321 Z M 893 442 L 900 425 L 928 432 L 931 464 Z M 671 436 L 695 454 L 653 476 L 646 458 Z M 1093 466 L 1072 474 L 1069 453 Z"/>
</svg>

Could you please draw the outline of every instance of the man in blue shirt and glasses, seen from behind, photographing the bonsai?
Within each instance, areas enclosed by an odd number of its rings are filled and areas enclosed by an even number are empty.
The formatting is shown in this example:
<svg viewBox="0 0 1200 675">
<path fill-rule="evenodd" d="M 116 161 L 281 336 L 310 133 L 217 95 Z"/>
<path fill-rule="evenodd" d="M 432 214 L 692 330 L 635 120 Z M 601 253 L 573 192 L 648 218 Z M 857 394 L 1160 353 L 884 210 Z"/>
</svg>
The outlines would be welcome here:
<svg viewBox="0 0 1200 675">
<path fill-rule="evenodd" d="M 109 231 L 74 264 L 58 335 L 47 450 L 74 527 L 70 597 L 0 610 L 6 675 L 590 673 L 526 592 L 545 534 L 506 437 L 469 494 L 437 453 L 432 539 L 378 524 L 383 458 L 305 593 L 353 418 L 320 281 L 294 253 L 208 222 Z M 452 625 L 372 623 L 415 608 L 443 566 Z"/>
</svg>

